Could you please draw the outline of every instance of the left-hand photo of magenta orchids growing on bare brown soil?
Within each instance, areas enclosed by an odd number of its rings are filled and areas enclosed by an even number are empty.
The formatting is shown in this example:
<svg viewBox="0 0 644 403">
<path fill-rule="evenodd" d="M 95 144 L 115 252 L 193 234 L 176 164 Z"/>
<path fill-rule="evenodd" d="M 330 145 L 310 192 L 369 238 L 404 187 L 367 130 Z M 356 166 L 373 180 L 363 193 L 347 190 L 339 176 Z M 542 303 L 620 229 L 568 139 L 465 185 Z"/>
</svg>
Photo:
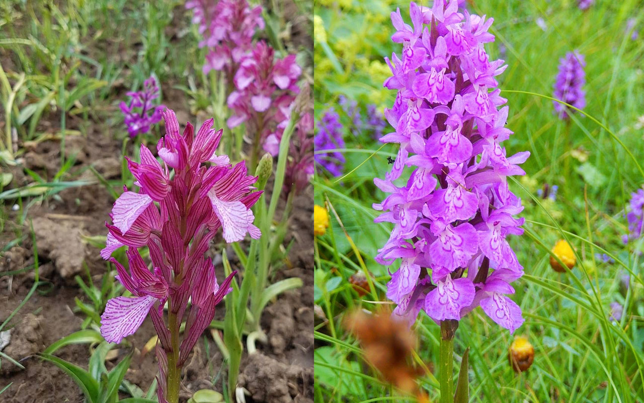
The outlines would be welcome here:
<svg viewBox="0 0 644 403">
<path fill-rule="evenodd" d="M 311 15 L 0 1 L 0 402 L 313 401 Z"/>
</svg>

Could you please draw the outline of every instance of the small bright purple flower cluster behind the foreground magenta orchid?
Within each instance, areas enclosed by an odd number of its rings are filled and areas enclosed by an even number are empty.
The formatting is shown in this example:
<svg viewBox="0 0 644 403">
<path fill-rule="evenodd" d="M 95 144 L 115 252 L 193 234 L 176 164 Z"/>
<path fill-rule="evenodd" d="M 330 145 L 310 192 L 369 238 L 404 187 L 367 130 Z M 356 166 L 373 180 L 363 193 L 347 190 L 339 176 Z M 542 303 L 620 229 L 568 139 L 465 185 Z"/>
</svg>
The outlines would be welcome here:
<svg viewBox="0 0 644 403">
<path fill-rule="evenodd" d="M 156 85 L 155 77 L 150 76 L 144 81 L 143 90 L 128 92 L 129 104 L 120 103 L 120 109 L 124 115 L 124 123 L 128 126 L 129 137 L 137 137 L 150 131 L 153 124 L 161 120 L 161 111 L 166 108 L 164 105 L 154 105 L 159 96 L 159 88 Z"/>
</svg>

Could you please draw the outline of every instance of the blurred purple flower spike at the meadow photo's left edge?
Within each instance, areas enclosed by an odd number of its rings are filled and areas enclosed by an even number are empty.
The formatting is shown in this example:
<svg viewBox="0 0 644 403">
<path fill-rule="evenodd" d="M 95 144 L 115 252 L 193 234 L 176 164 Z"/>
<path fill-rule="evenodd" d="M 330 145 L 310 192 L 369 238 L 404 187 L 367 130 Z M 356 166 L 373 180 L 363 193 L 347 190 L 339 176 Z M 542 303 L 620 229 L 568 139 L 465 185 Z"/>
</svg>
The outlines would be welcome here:
<svg viewBox="0 0 644 403">
<path fill-rule="evenodd" d="M 315 136 L 316 152 L 345 148 L 343 136 L 343 126 L 340 123 L 340 116 L 333 108 L 328 109 L 322 115 L 322 119 L 317 123 L 317 133 Z M 318 170 L 326 170 L 330 175 L 337 177 L 342 175 L 346 159 L 341 152 L 333 151 L 316 153 L 315 161 L 319 166 Z"/>
</svg>

